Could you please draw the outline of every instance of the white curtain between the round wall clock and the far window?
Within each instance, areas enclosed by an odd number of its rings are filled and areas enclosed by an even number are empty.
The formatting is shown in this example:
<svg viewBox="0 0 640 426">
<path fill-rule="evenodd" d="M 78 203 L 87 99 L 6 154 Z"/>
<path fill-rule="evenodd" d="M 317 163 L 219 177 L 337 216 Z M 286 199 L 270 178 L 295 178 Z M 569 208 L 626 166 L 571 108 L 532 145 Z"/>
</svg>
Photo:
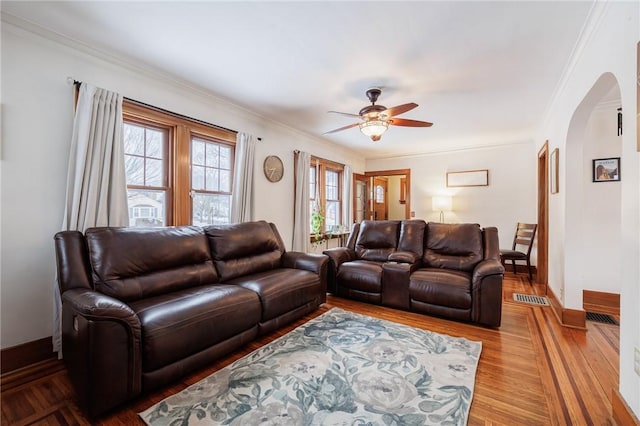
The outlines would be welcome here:
<svg viewBox="0 0 640 426">
<path fill-rule="evenodd" d="M 295 199 L 293 211 L 293 251 L 309 251 L 309 168 L 311 155 L 295 153 Z"/>
</svg>

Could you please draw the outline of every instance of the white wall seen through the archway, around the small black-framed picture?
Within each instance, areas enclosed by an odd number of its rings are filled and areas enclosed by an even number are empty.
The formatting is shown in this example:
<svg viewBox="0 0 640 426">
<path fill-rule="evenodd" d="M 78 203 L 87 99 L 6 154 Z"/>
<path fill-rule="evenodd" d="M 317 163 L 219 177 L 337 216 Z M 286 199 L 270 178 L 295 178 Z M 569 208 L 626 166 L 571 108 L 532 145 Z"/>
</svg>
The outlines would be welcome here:
<svg viewBox="0 0 640 426">
<path fill-rule="evenodd" d="M 566 155 L 561 157 L 566 186 L 560 298 L 565 308 L 582 309 L 583 290 L 618 294 L 621 290 L 620 182 L 592 179 L 594 159 L 621 156 L 622 138 L 616 134 L 619 106 L 618 82 L 613 74 L 605 73 L 578 105 L 569 124 Z"/>
</svg>

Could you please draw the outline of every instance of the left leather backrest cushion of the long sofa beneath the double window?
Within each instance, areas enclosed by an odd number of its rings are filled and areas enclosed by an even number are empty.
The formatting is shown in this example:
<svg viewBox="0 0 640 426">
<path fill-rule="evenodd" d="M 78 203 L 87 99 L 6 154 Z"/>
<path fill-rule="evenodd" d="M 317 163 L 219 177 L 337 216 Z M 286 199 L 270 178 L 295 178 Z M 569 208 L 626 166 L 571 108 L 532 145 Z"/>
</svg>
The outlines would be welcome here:
<svg viewBox="0 0 640 426">
<path fill-rule="evenodd" d="M 90 228 L 85 235 L 95 289 L 116 299 L 218 282 L 201 228 Z"/>
</svg>

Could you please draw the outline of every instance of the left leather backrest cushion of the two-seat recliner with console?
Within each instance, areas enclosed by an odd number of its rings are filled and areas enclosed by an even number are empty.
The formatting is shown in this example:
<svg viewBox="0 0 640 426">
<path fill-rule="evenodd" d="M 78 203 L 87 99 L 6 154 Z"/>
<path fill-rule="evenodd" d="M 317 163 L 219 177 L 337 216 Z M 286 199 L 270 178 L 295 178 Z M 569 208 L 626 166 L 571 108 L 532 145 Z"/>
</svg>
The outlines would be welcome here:
<svg viewBox="0 0 640 426">
<path fill-rule="evenodd" d="M 360 259 L 385 262 L 396 251 L 400 222 L 397 220 L 363 220 L 356 239 Z"/>
</svg>

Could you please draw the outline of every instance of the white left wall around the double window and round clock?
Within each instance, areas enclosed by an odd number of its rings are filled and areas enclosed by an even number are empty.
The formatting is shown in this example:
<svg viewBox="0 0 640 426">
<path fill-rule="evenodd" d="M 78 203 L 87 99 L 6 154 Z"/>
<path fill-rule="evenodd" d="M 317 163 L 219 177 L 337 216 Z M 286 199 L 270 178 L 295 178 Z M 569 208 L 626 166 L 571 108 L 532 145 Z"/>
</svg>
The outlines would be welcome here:
<svg viewBox="0 0 640 426">
<path fill-rule="evenodd" d="M 175 78 L 101 56 L 53 34 L 43 35 L 46 37 L 2 22 L 2 348 L 51 335 L 53 235 L 62 223 L 73 121 L 69 76 L 262 137 L 254 171 L 256 218 L 274 222 L 289 247 L 293 150 L 364 171 L 362 155 L 269 122 Z M 278 183 L 268 182 L 262 173 L 262 161 L 269 154 L 280 156 L 284 162 L 284 178 Z"/>
</svg>

